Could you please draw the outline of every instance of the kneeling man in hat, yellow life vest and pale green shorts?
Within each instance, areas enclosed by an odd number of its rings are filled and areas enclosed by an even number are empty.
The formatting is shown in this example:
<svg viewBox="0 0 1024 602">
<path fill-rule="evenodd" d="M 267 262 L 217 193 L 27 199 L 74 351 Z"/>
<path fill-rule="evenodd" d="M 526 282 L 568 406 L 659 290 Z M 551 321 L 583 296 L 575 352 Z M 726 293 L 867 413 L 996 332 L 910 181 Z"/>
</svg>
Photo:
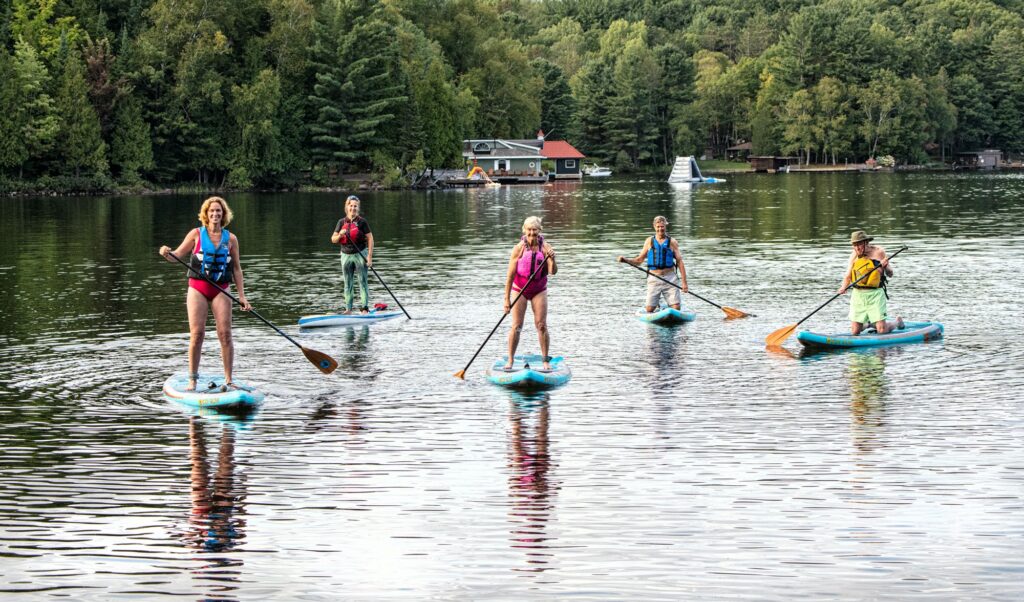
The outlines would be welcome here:
<svg viewBox="0 0 1024 602">
<path fill-rule="evenodd" d="M 893 275 L 893 268 L 889 265 L 886 250 L 870 244 L 873 240 L 864 230 L 854 230 L 850 234 L 853 253 L 850 254 L 850 263 L 843 276 L 843 286 L 839 288 L 839 294 L 844 295 L 853 287 L 853 295 L 850 297 L 850 332 L 854 335 L 859 335 L 872 324 L 880 335 L 903 328 L 902 317 L 896 316 L 896 321 L 886 321 L 889 318 L 889 298 L 885 286 L 886 278 Z M 857 281 L 868 272 L 870 275 Z"/>
</svg>

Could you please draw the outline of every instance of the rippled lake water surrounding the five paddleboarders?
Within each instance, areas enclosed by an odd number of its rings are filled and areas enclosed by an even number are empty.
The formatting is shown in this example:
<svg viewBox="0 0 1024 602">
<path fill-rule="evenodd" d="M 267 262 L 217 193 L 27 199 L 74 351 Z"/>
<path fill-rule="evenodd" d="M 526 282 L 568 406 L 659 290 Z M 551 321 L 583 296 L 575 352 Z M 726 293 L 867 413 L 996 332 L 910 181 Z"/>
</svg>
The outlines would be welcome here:
<svg viewBox="0 0 1024 602">
<path fill-rule="evenodd" d="M 0 201 L 4 595 L 193 599 L 1024 598 L 1024 175 L 729 175 L 370 192 L 375 266 L 413 320 L 299 332 L 340 304 L 341 195 L 231 195 L 247 293 L 331 376 L 237 312 L 246 420 L 162 398 L 185 369 L 202 197 Z M 691 290 L 757 314 L 642 324 L 662 214 Z M 489 385 L 505 265 L 544 218 L 552 352 Z M 891 308 L 939 342 L 803 355 L 850 231 L 909 250 Z M 373 283 L 374 301 L 391 302 Z M 393 302 L 392 306 L 393 306 Z M 804 326 L 847 328 L 841 298 Z M 527 317 L 520 349 L 537 352 Z M 208 336 L 203 367 L 219 370 Z"/>
</svg>

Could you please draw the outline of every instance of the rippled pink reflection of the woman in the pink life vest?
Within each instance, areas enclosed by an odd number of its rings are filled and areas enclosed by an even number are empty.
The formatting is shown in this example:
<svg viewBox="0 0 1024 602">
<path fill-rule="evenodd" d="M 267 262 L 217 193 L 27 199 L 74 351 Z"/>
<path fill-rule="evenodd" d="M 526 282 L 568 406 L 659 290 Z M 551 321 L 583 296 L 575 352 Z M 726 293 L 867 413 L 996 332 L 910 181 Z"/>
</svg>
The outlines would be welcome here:
<svg viewBox="0 0 1024 602">
<path fill-rule="evenodd" d="M 547 548 L 545 528 L 552 507 L 552 487 L 548 481 L 551 468 L 549 408 L 548 395 L 544 393 L 540 397 L 514 399 L 509 413 L 509 497 L 512 502 L 511 516 L 518 523 L 512 527 L 513 548 Z M 536 422 L 530 428 L 530 418 L 534 417 Z M 529 556 L 547 555 L 529 553 Z M 532 558 L 530 562 L 546 563 L 543 559 Z"/>
</svg>

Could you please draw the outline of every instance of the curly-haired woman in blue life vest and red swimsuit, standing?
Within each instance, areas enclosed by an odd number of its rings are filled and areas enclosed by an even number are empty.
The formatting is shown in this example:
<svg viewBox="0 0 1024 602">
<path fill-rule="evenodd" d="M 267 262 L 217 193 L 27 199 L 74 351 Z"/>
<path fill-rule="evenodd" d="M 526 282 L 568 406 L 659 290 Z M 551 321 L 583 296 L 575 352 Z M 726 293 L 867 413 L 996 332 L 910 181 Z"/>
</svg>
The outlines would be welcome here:
<svg viewBox="0 0 1024 602">
<path fill-rule="evenodd" d="M 220 197 L 210 197 L 203 202 L 199 210 L 199 221 L 203 225 L 190 230 L 185 240 L 173 251 L 175 257 L 183 259 L 191 252 L 193 265 L 203 270 L 218 286 L 227 290 L 233 281 L 238 289 L 242 309 L 248 311 L 252 305 L 246 300 L 245 285 L 242 275 L 242 263 L 239 261 L 239 239 L 228 232 L 225 226 L 231 221 L 231 209 Z M 225 238 L 226 235 L 226 238 Z M 171 248 L 160 248 L 160 254 L 167 257 Z M 188 293 L 185 296 L 185 306 L 188 309 L 188 386 L 186 390 L 196 390 L 196 380 L 199 378 L 199 360 L 203 353 L 203 339 L 206 337 L 206 318 L 213 310 L 213 318 L 217 322 L 217 338 L 220 339 L 220 358 L 224 363 L 224 389 L 234 388 L 231 384 L 231 365 L 234 362 L 234 343 L 231 340 L 231 300 L 227 295 L 221 295 L 217 287 L 191 271 L 188 272 Z"/>
</svg>

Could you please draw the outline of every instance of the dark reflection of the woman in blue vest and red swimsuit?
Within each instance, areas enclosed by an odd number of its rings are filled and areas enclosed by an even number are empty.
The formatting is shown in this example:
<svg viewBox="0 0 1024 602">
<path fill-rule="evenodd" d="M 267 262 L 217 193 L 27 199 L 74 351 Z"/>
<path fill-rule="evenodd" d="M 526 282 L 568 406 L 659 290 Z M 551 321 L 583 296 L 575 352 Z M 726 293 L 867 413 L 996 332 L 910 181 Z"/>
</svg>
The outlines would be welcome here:
<svg viewBox="0 0 1024 602">
<path fill-rule="evenodd" d="M 217 469 L 210 470 L 202 419 L 188 425 L 191 460 L 190 528 L 185 542 L 204 552 L 226 552 L 245 539 L 246 522 L 240 518 L 244 488 L 234 475 L 234 431 L 227 425 L 220 433 Z"/>
</svg>

